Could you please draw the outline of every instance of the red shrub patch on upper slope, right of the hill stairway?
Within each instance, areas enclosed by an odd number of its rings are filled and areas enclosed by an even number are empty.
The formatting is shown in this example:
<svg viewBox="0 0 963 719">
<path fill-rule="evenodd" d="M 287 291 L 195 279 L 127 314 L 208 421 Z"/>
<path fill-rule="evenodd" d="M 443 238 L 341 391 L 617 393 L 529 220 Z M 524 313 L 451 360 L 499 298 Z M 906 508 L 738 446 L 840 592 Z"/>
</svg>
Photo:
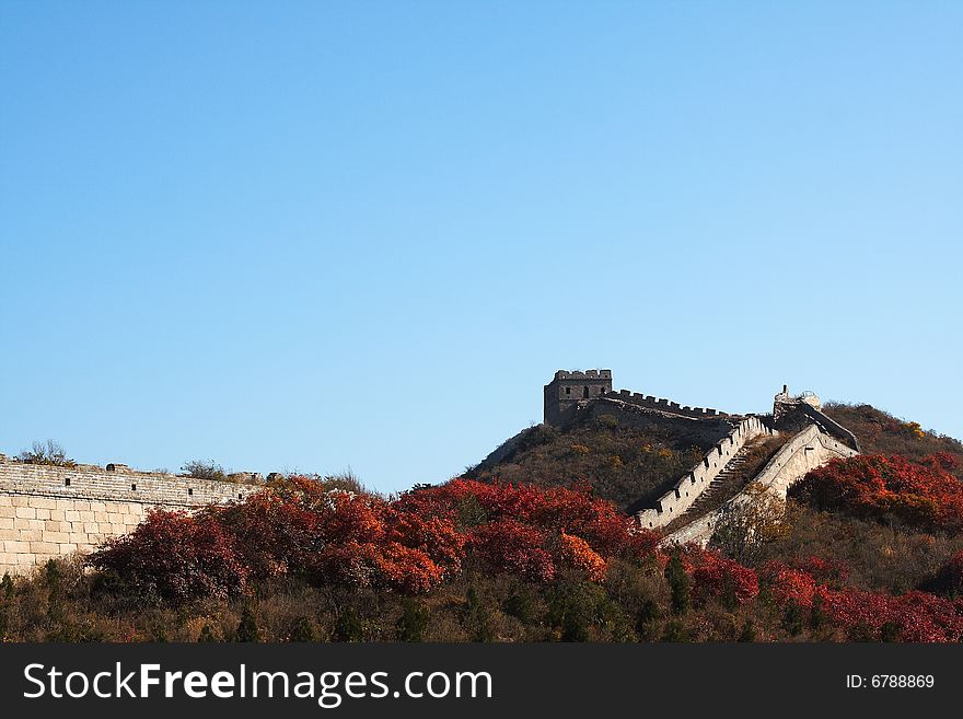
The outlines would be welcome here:
<svg viewBox="0 0 963 719">
<path fill-rule="evenodd" d="M 958 532 L 963 530 L 963 483 L 947 468 L 954 457 L 943 454 L 923 463 L 882 454 L 832 460 L 789 494 L 817 509 L 865 519 L 893 517 L 926 531 Z"/>
</svg>

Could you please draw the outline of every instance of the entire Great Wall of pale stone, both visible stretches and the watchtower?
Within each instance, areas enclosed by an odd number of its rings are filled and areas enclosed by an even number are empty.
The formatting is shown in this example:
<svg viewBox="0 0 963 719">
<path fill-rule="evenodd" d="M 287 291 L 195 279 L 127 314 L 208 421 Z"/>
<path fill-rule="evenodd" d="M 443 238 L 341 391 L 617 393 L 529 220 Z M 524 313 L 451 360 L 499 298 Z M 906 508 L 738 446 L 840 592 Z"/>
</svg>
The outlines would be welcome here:
<svg viewBox="0 0 963 719">
<path fill-rule="evenodd" d="M 819 398 L 790 396 L 785 386 L 774 398 L 771 415 L 742 416 L 613 391 L 611 370 L 559 370 L 544 387 L 544 411 L 545 424 L 556 427 L 616 415 L 711 438 L 707 442 L 711 449 L 696 466 L 650 507 L 635 513 L 641 527 L 664 531 L 672 524 L 675 529 L 670 527 L 669 542 L 706 544 L 720 517 L 752 501 L 750 485 L 785 499 L 788 488 L 813 467 L 859 452 L 852 432 L 823 414 Z M 486 461 L 499 461 L 522 434 L 504 442 Z M 719 506 L 705 507 L 751 442 L 779 434 L 788 438 L 786 443 L 761 472 L 747 478 L 739 494 Z M 26 573 L 51 558 L 88 554 L 134 530 L 153 508 L 193 510 L 242 500 L 259 484 L 259 476 L 251 473 L 231 478 L 234 482 L 211 482 L 138 472 L 123 464 L 33 464 L 0 454 L 0 576 Z"/>
</svg>

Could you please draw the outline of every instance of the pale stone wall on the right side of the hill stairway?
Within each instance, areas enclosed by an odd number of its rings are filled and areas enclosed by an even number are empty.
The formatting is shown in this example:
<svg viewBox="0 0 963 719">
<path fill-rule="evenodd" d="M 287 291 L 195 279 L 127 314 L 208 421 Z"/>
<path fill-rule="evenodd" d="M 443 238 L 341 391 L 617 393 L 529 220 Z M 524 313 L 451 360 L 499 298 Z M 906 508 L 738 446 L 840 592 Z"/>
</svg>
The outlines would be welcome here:
<svg viewBox="0 0 963 719">
<path fill-rule="evenodd" d="M 810 469 L 834 457 L 847 457 L 854 454 L 858 452 L 825 433 L 817 426 L 810 425 L 779 449 L 755 477 L 753 484 L 762 485 L 775 497 L 785 500 L 789 487 L 804 477 Z M 720 517 L 733 506 L 749 501 L 752 501 L 752 498 L 743 490 L 713 512 L 670 534 L 665 543 L 696 542 L 705 546 L 712 538 L 712 532 Z"/>
</svg>

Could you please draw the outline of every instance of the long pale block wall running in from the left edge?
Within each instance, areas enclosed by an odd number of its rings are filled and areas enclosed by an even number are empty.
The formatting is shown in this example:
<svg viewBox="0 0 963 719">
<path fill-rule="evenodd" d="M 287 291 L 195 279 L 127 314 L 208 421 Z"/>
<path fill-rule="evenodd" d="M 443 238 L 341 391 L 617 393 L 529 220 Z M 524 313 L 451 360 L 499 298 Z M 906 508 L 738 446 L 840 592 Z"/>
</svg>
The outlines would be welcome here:
<svg viewBox="0 0 963 719">
<path fill-rule="evenodd" d="M 107 466 L 55 467 L 0 454 L 0 576 L 92 552 L 131 531 L 155 507 L 192 509 L 243 499 L 257 489 Z"/>
</svg>

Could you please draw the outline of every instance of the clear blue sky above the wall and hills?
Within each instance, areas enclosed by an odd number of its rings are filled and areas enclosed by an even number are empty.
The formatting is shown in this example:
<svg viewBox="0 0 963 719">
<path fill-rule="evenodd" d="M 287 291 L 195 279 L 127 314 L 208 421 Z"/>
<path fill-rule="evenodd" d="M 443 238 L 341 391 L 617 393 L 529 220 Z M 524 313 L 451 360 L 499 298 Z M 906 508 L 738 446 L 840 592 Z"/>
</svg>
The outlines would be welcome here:
<svg viewBox="0 0 963 719">
<path fill-rule="evenodd" d="M 963 436 L 961 2 L 0 2 L 0 452 L 438 482 L 556 369 Z"/>
</svg>

